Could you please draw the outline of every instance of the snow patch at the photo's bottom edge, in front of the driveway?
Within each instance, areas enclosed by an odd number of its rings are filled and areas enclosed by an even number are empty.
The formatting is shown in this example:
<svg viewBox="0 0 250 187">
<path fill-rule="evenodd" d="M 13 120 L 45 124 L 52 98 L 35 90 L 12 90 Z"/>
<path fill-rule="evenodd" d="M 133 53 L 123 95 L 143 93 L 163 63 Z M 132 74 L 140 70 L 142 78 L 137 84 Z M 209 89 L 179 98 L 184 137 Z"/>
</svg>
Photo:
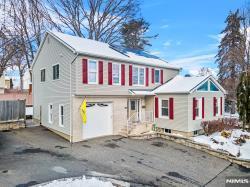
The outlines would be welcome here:
<svg viewBox="0 0 250 187">
<path fill-rule="evenodd" d="M 98 178 L 65 178 L 54 180 L 46 184 L 39 184 L 36 187 L 113 187 L 109 181 L 101 181 Z"/>
</svg>

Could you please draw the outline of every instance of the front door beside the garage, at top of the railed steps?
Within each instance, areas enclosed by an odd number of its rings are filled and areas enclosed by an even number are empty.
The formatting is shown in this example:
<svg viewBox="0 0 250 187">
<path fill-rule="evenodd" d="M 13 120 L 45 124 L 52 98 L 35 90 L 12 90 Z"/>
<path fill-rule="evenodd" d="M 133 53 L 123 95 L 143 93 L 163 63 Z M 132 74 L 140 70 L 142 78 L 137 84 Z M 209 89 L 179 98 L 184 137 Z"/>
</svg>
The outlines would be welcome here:
<svg viewBox="0 0 250 187">
<path fill-rule="evenodd" d="M 140 119 L 140 99 L 129 100 L 129 118 L 131 121 L 139 121 Z"/>
</svg>

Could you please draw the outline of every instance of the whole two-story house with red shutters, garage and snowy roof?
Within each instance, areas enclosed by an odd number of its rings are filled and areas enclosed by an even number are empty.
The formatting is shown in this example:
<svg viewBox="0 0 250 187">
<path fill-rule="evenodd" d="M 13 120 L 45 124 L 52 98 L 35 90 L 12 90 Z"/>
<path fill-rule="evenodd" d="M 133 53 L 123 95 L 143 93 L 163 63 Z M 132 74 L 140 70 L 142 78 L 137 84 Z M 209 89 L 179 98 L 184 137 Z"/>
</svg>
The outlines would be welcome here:
<svg viewBox="0 0 250 187">
<path fill-rule="evenodd" d="M 208 84 L 211 80 L 218 91 L 196 92 L 187 88 L 185 93 L 164 93 L 179 71 L 180 68 L 146 52 L 47 32 L 32 66 L 33 119 L 72 142 L 122 134 L 124 129 L 143 122 L 190 135 L 200 129 L 201 121 L 188 121 L 193 106 L 190 98 L 204 97 L 209 102 L 208 98 L 216 95 L 224 100 L 225 91 L 213 77 L 203 77 L 195 84 L 209 79 Z M 178 86 L 185 86 L 185 79 L 177 81 Z M 87 124 L 82 123 L 80 116 L 84 98 Z M 207 113 L 213 105 L 205 107 Z M 168 120 L 164 115 L 169 112 Z M 207 114 L 203 120 L 217 118 Z"/>
</svg>

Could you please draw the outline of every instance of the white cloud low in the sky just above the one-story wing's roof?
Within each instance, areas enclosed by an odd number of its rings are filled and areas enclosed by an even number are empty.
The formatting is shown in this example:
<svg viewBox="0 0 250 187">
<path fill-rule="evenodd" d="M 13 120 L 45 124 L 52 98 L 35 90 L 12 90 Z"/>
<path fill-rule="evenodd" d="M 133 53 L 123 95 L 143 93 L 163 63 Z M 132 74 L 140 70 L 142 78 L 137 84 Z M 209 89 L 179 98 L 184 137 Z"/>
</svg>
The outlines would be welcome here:
<svg viewBox="0 0 250 187">
<path fill-rule="evenodd" d="M 214 76 L 217 75 L 218 69 L 215 67 L 215 54 L 203 54 L 196 56 L 187 56 L 184 58 L 175 59 L 169 61 L 169 63 L 182 67 L 184 72 L 188 72 L 191 75 L 198 75 L 199 70 L 202 67 L 207 67 L 211 70 Z"/>
</svg>

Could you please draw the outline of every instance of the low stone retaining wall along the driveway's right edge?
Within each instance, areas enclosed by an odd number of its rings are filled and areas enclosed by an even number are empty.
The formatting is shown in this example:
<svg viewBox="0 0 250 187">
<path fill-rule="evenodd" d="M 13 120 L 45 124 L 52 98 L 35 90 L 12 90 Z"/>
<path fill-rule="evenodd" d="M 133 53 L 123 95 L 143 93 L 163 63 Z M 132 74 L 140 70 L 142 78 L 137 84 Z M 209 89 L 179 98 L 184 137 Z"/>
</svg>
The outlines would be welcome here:
<svg viewBox="0 0 250 187">
<path fill-rule="evenodd" d="M 229 153 L 219 151 L 219 150 L 214 150 L 211 149 L 209 146 L 201 143 L 197 143 L 189 138 L 181 137 L 181 136 L 176 136 L 176 135 L 171 135 L 171 134 L 164 134 L 164 133 L 150 133 L 150 134 L 142 134 L 142 135 L 131 135 L 129 138 L 132 139 L 153 139 L 153 138 L 163 138 L 166 140 L 173 141 L 175 143 L 185 145 L 187 147 L 192 147 L 197 150 L 206 152 L 210 155 L 216 156 L 218 158 L 222 158 L 225 160 L 228 160 L 231 163 L 241 165 L 246 168 L 250 168 L 250 160 L 244 160 L 244 159 L 239 159 L 231 156 Z"/>
</svg>

